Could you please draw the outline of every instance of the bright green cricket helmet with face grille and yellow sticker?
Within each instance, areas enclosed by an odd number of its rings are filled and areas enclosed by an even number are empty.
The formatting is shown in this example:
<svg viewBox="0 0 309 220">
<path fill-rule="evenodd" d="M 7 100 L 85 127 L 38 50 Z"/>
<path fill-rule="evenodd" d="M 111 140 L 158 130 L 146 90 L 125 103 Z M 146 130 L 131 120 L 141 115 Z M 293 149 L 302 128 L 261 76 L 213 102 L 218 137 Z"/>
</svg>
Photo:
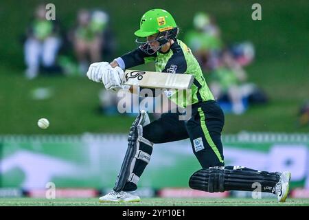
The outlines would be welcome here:
<svg viewBox="0 0 309 220">
<path fill-rule="evenodd" d="M 172 15 L 163 9 L 152 9 L 146 12 L 140 21 L 140 28 L 135 32 L 135 35 L 140 38 L 146 38 L 147 36 L 158 34 L 155 41 L 159 41 L 161 47 L 168 43 L 170 39 L 176 39 L 179 30 Z M 153 51 L 150 48 L 149 41 L 136 40 L 140 44 L 141 50 L 147 54 L 154 54 L 157 51 Z"/>
</svg>

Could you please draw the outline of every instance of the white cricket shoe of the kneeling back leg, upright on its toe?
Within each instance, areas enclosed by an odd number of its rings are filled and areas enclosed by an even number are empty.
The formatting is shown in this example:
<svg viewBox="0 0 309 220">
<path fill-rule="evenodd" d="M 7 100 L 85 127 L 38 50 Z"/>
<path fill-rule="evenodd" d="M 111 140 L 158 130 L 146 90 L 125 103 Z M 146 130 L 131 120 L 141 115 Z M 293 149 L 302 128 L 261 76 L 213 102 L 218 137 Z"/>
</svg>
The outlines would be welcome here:
<svg viewBox="0 0 309 220">
<path fill-rule="evenodd" d="M 286 171 L 279 173 L 279 175 L 280 179 L 275 186 L 275 194 L 279 202 L 284 202 L 286 201 L 286 197 L 288 197 L 290 172 Z"/>
</svg>

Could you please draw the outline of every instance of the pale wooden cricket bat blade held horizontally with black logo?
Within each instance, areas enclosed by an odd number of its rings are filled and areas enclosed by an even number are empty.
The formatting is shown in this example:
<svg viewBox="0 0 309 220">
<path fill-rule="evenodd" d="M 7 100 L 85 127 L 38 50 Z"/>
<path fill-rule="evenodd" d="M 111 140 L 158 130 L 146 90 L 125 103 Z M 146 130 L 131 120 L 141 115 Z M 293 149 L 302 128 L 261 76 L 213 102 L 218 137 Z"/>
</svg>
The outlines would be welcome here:
<svg viewBox="0 0 309 220">
<path fill-rule="evenodd" d="M 145 88 L 190 89 L 194 80 L 191 74 L 169 74 L 126 69 L 124 85 L 133 85 Z"/>
</svg>

